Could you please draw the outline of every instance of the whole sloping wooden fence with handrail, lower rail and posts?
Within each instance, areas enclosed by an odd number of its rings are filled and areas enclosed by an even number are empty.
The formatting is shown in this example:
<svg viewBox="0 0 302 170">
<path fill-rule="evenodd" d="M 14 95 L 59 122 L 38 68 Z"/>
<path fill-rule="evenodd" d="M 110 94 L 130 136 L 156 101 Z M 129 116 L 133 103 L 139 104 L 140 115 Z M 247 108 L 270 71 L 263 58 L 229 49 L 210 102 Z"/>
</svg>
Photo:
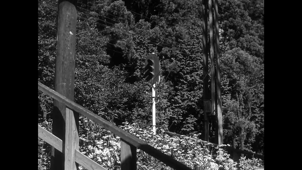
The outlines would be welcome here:
<svg viewBox="0 0 302 170">
<path fill-rule="evenodd" d="M 111 131 L 115 135 L 121 138 L 121 164 L 122 170 L 135 170 L 136 167 L 136 149 L 140 149 L 147 154 L 153 156 L 159 161 L 165 163 L 166 165 L 174 168 L 175 170 L 191 170 L 188 166 L 178 162 L 173 159 L 171 156 L 166 155 L 154 148 L 153 146 L 147 144 L 146 142 L 138 139 L 137 137 L 131 135 L 130 133 L 120 129 L 109 121 L 101 118 L 100 116 L 92 113 L 90 110 L 85 109 L 83 106 L 73 102 L 72 100 L 67 99 L 65 96 L 59 94 L 58 92 L 50 89 L 49 87 L 43 85 L 38 81 L 38 90 L 52 97 L 54 100 L 57 100 L 60 103 L 66 105 L 66 141 L 65 148 L 62 148 L 63 142 L 56 136 L 47 132 L 45 129 L 38 125 L 38 136 L 45 140 L 46 142 L 53 145 L 56 149 L 65 154 L 65 169 L 74 170 L 74 161 L 78 162 L 80 165 L 84 166 L 88 170 L 95 169 L 105 169 L 93 162 L 91 159 L 87 158 L 85 155 L 79 152 L 78 150 L 78 136 L 76 131 L 76 126 L 74 123 L 74 118 L 72 117 L 72 111 L 82 114 L 88 119 L 94 121 L 98 125 L 104 127 L 104 129 Z M 70 116 L 67 119 L 67 116 Z M 89 160 L 88 160 L 89 159 Z M 69 165 L 66 165 L 69 164 Z M 97 165 L 96 165 L 97 164 Z"/>
</svg>

